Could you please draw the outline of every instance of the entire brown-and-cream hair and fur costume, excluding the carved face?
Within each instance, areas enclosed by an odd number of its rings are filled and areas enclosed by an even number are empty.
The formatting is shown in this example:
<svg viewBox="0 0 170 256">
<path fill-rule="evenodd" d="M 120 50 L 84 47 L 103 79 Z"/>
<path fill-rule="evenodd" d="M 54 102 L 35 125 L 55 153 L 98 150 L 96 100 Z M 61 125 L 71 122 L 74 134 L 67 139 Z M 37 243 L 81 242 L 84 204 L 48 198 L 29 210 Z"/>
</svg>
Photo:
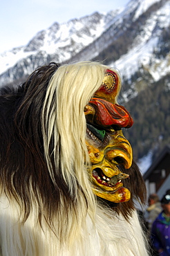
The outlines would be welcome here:
<svg viewBox="0 0 170 256">
<path fill-rule="evenodd" d="M 1 92 L 1 255 L 147 255 L 133 207 L 98 203 L 88 175 L 84 107 L 108 68 L 50 64 Z"/>
</svg>

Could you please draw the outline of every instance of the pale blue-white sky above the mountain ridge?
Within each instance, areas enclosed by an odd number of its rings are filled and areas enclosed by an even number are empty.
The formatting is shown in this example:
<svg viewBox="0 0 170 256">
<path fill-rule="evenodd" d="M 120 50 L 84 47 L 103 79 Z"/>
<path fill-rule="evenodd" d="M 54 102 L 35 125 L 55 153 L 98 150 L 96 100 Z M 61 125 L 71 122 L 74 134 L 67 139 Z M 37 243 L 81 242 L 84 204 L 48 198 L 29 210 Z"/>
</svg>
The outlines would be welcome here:
<svg viewBox="0 0 170 256">
<path fill-rule="evenodd" d="M 129 0 L 1 0 L 0 53 L 28 44 L 53 23 L 123 8 Z"/>
</svg>

